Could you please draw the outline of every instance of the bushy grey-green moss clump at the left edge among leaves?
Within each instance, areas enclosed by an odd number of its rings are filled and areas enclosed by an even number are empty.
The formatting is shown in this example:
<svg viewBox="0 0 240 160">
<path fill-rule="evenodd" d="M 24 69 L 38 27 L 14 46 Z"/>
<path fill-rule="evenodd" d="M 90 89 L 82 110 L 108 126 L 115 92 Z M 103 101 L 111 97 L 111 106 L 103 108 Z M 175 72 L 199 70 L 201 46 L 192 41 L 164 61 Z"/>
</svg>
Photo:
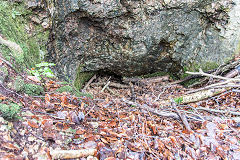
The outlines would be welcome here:
<svg viewBox="0 0 240 160">
<path fill-rule="evenodd" d="M 0 112 L 2 113 L 2 117 L 6 120 L 15 120 L 19 119 L 20 106 L 15 103 L 0 104 Z"/>
</svg>

